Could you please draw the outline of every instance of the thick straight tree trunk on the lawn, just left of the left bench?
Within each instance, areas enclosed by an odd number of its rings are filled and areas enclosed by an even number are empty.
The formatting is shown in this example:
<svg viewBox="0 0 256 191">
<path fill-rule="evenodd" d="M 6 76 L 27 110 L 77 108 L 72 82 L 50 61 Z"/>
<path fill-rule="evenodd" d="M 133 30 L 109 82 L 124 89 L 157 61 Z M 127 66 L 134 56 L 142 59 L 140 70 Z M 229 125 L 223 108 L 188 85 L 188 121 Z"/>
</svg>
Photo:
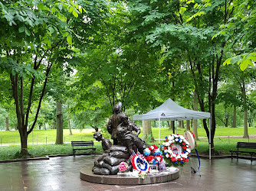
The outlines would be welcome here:
<svg viewBox="0 0 256 191">
<path fill-rule="evenodd" d="M 63 112 L 61 102 L 56 102 L 56 143 L 63 144 Z"/>
</svg>

